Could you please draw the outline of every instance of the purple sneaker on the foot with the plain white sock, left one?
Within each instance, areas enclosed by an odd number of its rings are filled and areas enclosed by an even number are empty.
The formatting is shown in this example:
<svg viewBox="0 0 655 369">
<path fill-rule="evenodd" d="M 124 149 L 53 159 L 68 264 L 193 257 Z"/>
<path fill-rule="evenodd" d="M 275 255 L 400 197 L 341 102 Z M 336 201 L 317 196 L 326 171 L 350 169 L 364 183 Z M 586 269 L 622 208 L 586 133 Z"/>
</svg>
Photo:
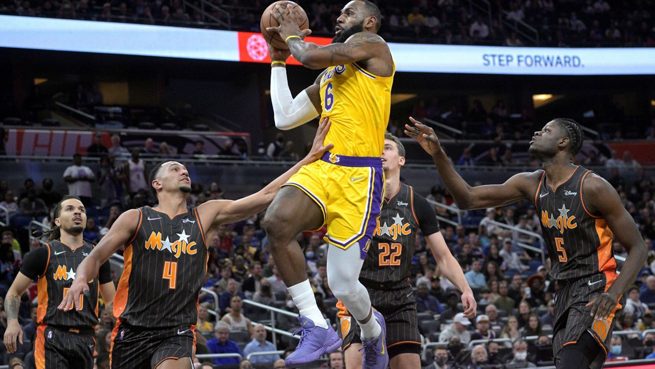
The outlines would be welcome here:
<svg viewBox="0 0 655 369">
<path fill-rule="evenodd" d="M 329 354 L 341 347 L 341 338 L 331 326 L 327 329 L 315 326 L 312 320 L 298 315 L 300 328 L 293 334 L 300 334 L 300 342 L 295 351 L 289 355 L 284 364 L 289 368 L 305 368 L 318 360 L 322 355 Z"/>
</svg>

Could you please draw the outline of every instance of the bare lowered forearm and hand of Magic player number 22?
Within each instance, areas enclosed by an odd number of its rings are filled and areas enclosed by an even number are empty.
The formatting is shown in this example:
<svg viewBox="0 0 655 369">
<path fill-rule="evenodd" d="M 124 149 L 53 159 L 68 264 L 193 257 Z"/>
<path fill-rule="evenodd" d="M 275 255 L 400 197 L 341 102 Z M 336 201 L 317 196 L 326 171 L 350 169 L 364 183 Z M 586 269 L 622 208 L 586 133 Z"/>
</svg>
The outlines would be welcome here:
<svg viewBox="0 0 655 369">
<path fill-rule="evenodd" d="M 468 285 L 462 267 L 460 267 L 453 254 L 451 254 L 446 241 L 443 239 L 441 232 L 432 233 L 425 238 L 430 251 L 436 260 L 441 273 L 451 281 L 462 292 L 462 307 L 464 308 L 464 317 L 474 318 L 477 311 L 477 302 L 473 297 L 473 290 Z"/>
</svg>

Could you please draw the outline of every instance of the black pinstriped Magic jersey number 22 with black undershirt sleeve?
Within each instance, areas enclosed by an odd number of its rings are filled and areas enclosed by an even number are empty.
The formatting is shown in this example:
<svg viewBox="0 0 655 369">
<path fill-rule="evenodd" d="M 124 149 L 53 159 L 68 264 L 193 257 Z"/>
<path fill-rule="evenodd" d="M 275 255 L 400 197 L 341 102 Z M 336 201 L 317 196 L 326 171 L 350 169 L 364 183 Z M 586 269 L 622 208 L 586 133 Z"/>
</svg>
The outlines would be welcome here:
<svg viewBox="0 0 655 369">
<path fill-rule="evenodd" d="M 373 242 L 369 246 L 360 281 L 367 288 L 400 290 L 411 286 L 411 261 L 417 243 L 439 231 L 434 208 L 411 186 L 400 184 L 398 192 L 384 199 Z"/>
</svg>

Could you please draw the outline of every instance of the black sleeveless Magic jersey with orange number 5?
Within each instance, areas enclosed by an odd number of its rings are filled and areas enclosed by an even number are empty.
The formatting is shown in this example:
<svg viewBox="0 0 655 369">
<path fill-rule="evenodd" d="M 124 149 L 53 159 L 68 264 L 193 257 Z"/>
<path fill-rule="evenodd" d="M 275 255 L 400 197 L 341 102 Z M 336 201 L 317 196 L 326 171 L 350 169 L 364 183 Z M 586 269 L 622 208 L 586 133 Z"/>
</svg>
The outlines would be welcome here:
<svg viewBox="0 0 655 369">
<path fill-rule="evenodd" d="M 578 166 L 571 177 L 553 188 L 542 174 L 534 204 L 552 262 L 551 277 L 580 279 L 598 273 L 607 275 L 607 287 L 616 279 L 612 231 L 601 216 L 589 213 L 583 186 L 593 172 Z"/>
</svg>

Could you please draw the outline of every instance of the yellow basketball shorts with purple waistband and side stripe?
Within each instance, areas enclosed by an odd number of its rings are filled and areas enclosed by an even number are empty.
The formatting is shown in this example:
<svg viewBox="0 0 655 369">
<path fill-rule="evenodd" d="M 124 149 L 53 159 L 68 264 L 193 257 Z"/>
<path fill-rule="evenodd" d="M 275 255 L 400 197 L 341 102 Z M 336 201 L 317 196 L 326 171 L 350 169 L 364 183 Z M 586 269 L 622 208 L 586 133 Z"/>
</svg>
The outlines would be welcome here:
<svg viewBox="0 0 655 369">
<path fill-rule="evenodd" d="M 366 258 L 384 193 L 384 172 L 379 157 L 349 157 L 328 152 L 320 160 L 300 168 L 284 185 L 301 189 L 321 208 L 323 225 L 327 224 L 324 237 L 327 243 L 344 250 L 358 243 L 362 259 Z"/>
</svg>

